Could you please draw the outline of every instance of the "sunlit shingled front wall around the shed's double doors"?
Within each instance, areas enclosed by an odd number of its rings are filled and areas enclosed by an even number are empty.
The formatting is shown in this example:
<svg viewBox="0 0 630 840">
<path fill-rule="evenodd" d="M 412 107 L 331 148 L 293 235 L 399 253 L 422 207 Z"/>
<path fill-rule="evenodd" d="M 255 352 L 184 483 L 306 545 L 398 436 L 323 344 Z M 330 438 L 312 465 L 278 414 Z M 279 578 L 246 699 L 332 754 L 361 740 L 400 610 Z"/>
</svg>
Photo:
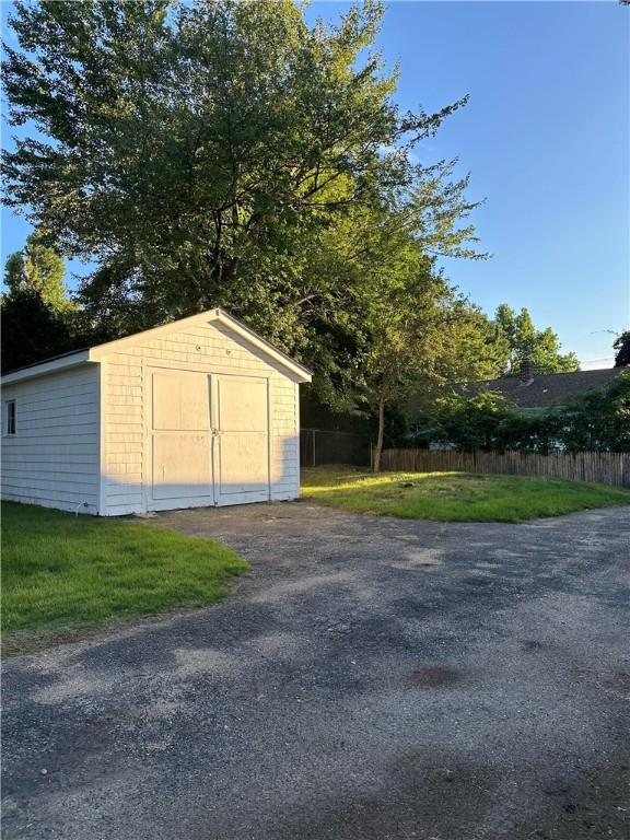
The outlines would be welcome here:
<svg viewBox="0 0 630 840">
<path fill-rule="evenodd" d="M 201 324 L 121 348 L 101 362 L 102 504 L 113 516 L 147 510 L 148 371 L 153 368 L 269 380 L 272 500 L 300 494 L 299 385 L 287 370 L 228 327 Z"/>
</svg>

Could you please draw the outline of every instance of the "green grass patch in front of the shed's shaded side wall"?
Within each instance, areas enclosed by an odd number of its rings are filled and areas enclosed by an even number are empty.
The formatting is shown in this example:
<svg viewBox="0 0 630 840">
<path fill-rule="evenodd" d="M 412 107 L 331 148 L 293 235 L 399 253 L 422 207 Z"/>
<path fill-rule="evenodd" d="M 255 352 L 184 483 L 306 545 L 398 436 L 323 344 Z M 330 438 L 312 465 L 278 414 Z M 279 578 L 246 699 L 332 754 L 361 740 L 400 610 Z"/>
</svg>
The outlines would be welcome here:
<svg viewBox="0 0 630 840">
<path fill-rule="evenodd" d="M 7 652 L 222 598 L 248 569 L 226 546 L 153 524 L 2 504 Z"/>
</svg>

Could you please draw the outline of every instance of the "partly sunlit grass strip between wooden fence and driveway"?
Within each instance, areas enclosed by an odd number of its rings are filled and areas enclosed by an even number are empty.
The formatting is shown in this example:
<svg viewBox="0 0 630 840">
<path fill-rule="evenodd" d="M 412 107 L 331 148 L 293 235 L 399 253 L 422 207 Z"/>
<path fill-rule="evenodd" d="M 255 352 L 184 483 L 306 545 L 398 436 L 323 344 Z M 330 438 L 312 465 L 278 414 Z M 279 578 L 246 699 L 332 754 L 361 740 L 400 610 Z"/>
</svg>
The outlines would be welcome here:
<svg viewBox="0 0 630 840">
<path fill-rule="evenodd" d="M 630 504 L 630 490 L 604 485 L 469 472 L 374 475 L 345 466 L 303 470 L 302 497 L 360 513 L 441 522 L 523 522 Z"/>
</svg>

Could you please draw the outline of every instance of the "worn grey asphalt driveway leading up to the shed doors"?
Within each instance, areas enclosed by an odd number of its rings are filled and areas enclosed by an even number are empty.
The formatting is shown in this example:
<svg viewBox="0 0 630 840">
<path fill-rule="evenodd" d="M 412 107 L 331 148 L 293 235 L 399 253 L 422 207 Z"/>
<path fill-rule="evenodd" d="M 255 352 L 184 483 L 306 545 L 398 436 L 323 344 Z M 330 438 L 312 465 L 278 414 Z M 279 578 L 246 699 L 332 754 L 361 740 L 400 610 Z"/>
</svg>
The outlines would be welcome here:
<svg viewBox="0 0 630 840">
<path fill-rule="evenodd" d="M 159 521 L 253 572 L 220 605 L 7 663 L 5 840 L 630 836 L 628 509 Z"/>
</svg>

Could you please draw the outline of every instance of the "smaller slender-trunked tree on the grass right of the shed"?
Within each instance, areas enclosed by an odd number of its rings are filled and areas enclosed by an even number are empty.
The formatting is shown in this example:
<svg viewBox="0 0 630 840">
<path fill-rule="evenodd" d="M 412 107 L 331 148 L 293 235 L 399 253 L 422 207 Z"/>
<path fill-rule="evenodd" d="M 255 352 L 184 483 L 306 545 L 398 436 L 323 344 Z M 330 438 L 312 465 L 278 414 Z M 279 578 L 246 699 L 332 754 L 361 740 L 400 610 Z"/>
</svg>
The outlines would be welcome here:
<svg viewBox="0 0 630 840">
<path fill-rule="evenodd" d="M 444 357 L 452 350 L 450 337 L 462 322 L 457 312 L 463 310 L 462 302 L 436 271 L 435 256 L 478 256 L 467 245 L 475 238 L 474 230 L 458 226 L 470 209 L 464 188 L 460 183 L 452 192 L 448 213 L 440 199 L 441 230 L 432 241 L 423 226 L 424 208 L 435 190 L 431 184 L 423 185 L 410 202 L 390 203 L 380 213 L 371 209 L 369 225 L 354 225 L 361 238 L 354 234 L 353 255 L 346 259 L 347 269 L 355 273 L 348 284 L 353 295 L 350 308 L 361 324 L 354 380 L 359 400 L 377 418 L 376 471 L 386 412 L 406 408 L 419 392 L 440 382 Z"/>
</svg>

